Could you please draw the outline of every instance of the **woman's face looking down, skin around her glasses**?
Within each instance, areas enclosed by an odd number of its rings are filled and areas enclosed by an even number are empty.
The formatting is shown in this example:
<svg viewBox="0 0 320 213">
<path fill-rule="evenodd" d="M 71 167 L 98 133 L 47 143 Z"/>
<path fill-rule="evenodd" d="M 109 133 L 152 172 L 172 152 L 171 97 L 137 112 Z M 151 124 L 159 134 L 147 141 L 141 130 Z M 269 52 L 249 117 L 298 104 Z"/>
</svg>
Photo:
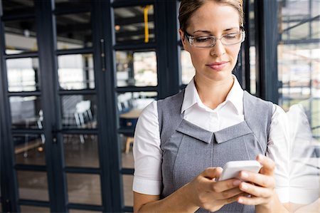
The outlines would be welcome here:
<svg viewBox="0 0 320 213">
<path fill-rule="evenodd" d="M 186 31 L 191 36 L 215 36 L 220 38 L 225 34 L 238 33 L 239 14 L 232 6 L 206 1 L 189 19 Z M 230 79 L 238 59 L 241 43 L 223 46 L 217 40 L 210 48 L 196 48 L 188 43 L 183 31 L 179 30 L 183 48 L 191 54 L 197 78 L 208 80 Z"/>
</svg>

